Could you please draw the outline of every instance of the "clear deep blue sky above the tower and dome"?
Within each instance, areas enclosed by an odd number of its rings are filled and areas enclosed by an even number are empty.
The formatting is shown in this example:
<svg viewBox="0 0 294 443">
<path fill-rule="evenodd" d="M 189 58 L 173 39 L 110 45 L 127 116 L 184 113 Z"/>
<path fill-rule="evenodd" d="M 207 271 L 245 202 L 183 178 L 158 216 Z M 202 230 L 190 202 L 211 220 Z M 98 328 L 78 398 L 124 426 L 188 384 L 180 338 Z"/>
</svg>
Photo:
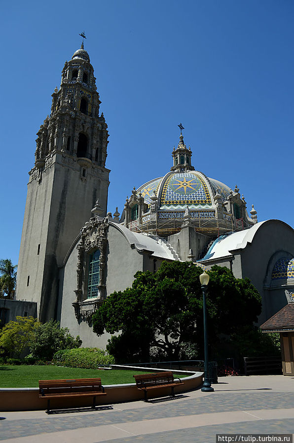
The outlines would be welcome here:
<svg viewBox="0 0 294 443">
<path fill-rule="evenodd" d="M 294 2 L 12 1 L 1 8 L 0 258 L 17 263 L 36 132 L 65 60 L 80 46 L 109 127 L 109 206 L 192 164 L 244 194 L 258 220 L 294 227 Z"/>
</svg>

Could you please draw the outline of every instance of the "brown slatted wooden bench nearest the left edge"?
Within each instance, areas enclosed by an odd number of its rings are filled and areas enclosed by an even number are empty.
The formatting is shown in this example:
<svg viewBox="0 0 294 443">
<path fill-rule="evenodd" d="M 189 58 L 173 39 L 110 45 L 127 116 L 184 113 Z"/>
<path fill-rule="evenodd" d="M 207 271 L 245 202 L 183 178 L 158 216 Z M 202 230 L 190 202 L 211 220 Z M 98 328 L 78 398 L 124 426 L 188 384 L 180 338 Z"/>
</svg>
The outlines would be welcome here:
<svg viewBox="0 0 294 443">
<path fill-rule="evenodd" d="M 51 398 L 93 397 L 94 409 L 98 395 L 106 395 L 101 379 L 39 380 L 39 397 L 47 399 L 48 413 Z"/>
</svg>

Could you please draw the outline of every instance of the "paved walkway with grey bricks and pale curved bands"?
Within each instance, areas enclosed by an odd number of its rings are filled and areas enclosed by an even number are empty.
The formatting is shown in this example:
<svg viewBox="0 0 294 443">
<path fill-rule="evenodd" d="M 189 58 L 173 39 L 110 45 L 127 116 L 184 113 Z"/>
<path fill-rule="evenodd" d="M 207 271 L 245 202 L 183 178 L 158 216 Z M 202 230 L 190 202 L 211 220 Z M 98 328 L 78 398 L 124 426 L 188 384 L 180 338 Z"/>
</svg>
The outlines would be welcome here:
<svg viewBox="0 0 294 443">
<path fill-rule="evenodd" d="M 216 434 L 293 434 L 294 378 L 222 377 L 201 390 L 143 401 L 56 411 L 0 412 L 9 443 L 203 443 Z"/>
</svg>

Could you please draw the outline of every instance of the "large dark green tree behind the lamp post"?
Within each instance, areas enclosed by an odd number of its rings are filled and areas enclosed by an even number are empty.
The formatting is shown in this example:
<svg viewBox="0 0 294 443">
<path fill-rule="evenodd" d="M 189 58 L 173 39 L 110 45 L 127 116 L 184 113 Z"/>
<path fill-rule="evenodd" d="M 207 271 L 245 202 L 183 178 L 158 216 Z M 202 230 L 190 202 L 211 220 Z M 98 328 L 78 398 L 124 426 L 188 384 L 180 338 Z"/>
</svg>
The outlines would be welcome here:
<svg viewBox="0 0 294 443">
<path fill-rule="evenodd" d="M 163 262 L 155 273 L 137 272 L 132 287 L 114 292 L 93 316 L 93 330 L 113 335 L 108 351 L 117 361 L 145 360 L 150 348 L 168 359 L 203 358 L 202 269 L 192 263 Z M 253 325 L 261 298 L 248 279 L 220 266 L 209 271 L 207 293 L 210 351 L 223 335 Z M 189 354 L 189 355 L 188 355 Z"/>
</svg>

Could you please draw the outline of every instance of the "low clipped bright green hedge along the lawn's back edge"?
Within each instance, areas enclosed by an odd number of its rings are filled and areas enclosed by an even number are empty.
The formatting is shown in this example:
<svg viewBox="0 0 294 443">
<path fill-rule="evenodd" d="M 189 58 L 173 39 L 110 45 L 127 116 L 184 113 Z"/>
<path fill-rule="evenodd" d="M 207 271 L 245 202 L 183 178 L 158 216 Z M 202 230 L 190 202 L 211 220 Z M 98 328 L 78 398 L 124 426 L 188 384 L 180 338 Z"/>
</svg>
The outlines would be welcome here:
<svg viewBox="0 0 294 443">
<path fill-rule="evenodd" d="M 101 365 L 113 364 L 114 357 L 99 348 L 63 349 L 55 352 L 53 363 L 71 368 L 97 369 Z"/>
</svg>

